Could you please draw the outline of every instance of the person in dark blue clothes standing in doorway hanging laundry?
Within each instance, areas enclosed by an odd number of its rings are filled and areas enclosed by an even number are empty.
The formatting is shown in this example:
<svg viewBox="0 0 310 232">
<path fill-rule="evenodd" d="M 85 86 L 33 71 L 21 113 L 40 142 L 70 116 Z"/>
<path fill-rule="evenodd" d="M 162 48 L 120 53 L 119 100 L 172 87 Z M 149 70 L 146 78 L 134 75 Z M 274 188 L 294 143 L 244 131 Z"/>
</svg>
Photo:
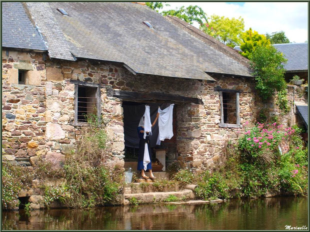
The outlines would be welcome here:
<svg viewBox="0 0 310 232">
<path fill-rule="evenodd" d="M 157 119 L 158 119 L 159 113 L 157 113 L 155 120 L 152 123 L 152 127 L 155 125 Z M 139 141 L 139 152 L 138 152 L 138 166 L 137 166 L 137 170 L 141 171 L 141 177 L 144 178 L 145 180 L 147 180 L 148 178 L 150 178 L 151 180 L 155 180 L 156 177 L 154 177 L 153 173 L 152 173 L 152 166 L 151 166 L 151 162 L 149 162 L 146 166 L 146 170 L 148 170 L 149 172 L 149 177 L 147 177 L 144 173 L 144 167 L 143 167 L 143 156 L 144 156 L 144 148 L 145 148 L 145 143 L 147 143 L 147 148 L 148 148 L 148 154 L 149 154 L 149 160 L 151 160 L 151 150 L 150 150 L 150 146 L 149 146 L 149 136 L 146 136 L 145 139 L 143 138 L 144 135 L 144 117 L 141 117 L 139 125 L 137 127 L 137 132 L 138 132 L 138 136 L 140 138 Z M 147 134 L 148 132 L 146 132 Z"/>
</svg>

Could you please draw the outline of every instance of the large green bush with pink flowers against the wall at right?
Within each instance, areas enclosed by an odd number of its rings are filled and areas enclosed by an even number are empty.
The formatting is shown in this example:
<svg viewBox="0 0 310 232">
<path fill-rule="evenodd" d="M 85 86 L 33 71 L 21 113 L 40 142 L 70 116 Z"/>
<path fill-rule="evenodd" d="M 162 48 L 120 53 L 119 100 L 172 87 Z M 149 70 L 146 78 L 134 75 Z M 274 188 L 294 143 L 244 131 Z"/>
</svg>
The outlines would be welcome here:
<svg viewBox="0 0 310 232">
<path fill-rule="evenodd" d="M 276 123 L 258 123 L 244 129 L 237 148 L 245 196 L 260 196 L 266 190 L 301 195 L 307 192 L 307 147 L 299 133 L 298 127 Z M 281 151 L 282 141 L 288 151 Z"/>
</svg>

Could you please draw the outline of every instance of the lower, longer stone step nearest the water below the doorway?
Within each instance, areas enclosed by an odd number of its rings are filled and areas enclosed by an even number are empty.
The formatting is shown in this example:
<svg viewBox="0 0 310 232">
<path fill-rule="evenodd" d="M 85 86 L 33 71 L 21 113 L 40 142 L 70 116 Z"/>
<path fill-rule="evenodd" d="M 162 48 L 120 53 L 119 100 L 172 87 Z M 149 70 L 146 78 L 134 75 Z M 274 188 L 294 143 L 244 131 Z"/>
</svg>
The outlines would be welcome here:
<svg viewBox="0 0 310 232">
<path fill-rule="evenodd" d="M 151 192 L 151 193 L 138 193 L 138 194 L 124 194 L 124 205 L 132 204 L 149 204 L 165 202 L 170 195 L 178 198 L 180 201 L 194 199 L 194 194 L 189 189 L 184 189 L 177 192 Z"/>
</svg>

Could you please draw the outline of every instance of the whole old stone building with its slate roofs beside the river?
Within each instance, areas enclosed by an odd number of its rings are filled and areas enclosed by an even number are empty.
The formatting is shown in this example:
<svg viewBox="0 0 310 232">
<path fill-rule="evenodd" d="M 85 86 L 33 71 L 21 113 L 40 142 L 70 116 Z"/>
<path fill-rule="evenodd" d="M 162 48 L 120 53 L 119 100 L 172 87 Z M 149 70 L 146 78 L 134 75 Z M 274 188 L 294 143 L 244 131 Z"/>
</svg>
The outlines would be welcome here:
<svg viewBox="0 0 310 232">
<path fill-rule="evenodd" d="M 211 169 L 259 107 L 276 108 L 257 102 L 247 59 L 142 4 L 2 2 L 2 22 L 2 157 L 29 170 L 37 157 L 60 167 L 90 113 L 106 130 L 107 164 L 123 166 L 124 109 L 166 103 L 167 161 Z"/>
</svg>

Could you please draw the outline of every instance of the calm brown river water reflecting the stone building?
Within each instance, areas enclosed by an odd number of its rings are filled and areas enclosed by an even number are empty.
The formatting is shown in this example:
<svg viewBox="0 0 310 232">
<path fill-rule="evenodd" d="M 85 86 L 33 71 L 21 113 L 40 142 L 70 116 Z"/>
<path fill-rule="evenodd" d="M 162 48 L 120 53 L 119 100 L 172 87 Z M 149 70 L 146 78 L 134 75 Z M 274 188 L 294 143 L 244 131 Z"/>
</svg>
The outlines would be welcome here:
<svg viewBox="0 0 310 232">
<path fill-rule="evenodd" d="M 207 205 L 113 206 L 2 212 L 3 230 L 284 230 L 308 228 L 307 198 L 230 200 Z"/>
</svg>

